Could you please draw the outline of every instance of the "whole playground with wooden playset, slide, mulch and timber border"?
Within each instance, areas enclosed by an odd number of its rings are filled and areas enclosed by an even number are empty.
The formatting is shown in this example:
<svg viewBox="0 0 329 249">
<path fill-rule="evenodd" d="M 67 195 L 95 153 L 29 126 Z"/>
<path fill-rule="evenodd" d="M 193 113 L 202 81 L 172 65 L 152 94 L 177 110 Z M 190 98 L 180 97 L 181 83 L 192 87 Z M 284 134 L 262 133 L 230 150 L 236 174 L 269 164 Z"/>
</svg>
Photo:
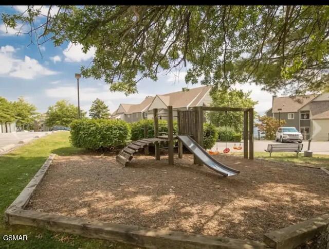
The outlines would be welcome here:
<svg viewBox="0 0 329 249">
<path fill-rule="evenodd" d="M 203 149 L 205 110 L 244 112 L 243 157 Z M 169 106 L 167 136 L 158 135 L 153 111 L 154 137 L 131 141 L 117 155 L 49 157 L 7 209 L 7 220 L 92 238 L 127 236 L 117 240 L 138 245 L 157 236 L 174 245 L 196 234 L 206 244 L 222 243 L 218 237 L 241 244 L 262 243 L 264 234 L 326 214 L 329 181 L 322 170 L 254 159 L 252 109 L 178 111 L 174 134 Z M 168 146 L 162 153 L 161 143 Z M 130 233 L 141 237 L 132 242 Z"/>
</svg>

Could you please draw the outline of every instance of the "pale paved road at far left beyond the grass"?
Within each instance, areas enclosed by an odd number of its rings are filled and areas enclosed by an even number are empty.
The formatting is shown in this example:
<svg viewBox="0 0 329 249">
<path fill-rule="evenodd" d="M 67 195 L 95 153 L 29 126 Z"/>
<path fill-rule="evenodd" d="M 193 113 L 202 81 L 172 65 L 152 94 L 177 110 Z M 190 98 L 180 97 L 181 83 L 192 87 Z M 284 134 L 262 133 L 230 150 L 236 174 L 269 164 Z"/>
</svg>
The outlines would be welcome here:
<svg viewBox="0 0 329 249">
<path fill-rule="evenodd" d="M 33 138 L 43 137 L 51 132 L 12 132 L 0 133 L 0 152 L 11 149 L 17 145 L 28 143 Z"/>
</svg>

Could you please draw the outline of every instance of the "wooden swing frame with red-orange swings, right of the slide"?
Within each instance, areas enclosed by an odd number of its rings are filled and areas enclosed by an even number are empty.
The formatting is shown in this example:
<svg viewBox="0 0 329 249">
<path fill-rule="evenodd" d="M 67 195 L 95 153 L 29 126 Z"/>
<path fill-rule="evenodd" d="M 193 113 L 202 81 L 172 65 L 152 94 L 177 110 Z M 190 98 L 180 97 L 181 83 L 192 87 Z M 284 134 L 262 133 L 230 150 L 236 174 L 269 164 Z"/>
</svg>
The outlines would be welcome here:
<svg viewBox="0 0 329 249">
<path fill-rule="evenodd" d="M 243 147 L 241 146 L 241 143 L 239 143 L 239 146 L 236 146 L 236 144 L 234 144 L 232 149 L 242 150 L 242 148 L 243 148 L 244 158 L 248 158 L 248 151 L 249 151 L 249 159 L 253 159 L 253 109 L 252 108 L 228 108 L 228 107 L 203 106 L 202 111 L 225 112 L 225 115 L 227 114 L 227 112 L 243 112 L 244 113 L 244 118 L 243 118 Z M 226 144 L 225 144 L 225 149 L 223 150 L 223 153 L 226 154 L 226 153 L 230 152 L 230 148 L 228 148 L 228 146 L 227 146 L 227 139 L 226 139 L 225 142 L 226 142 Z M 248 145 L 249 145 L 249 150 L 248 150 Z M 216 150 L 215 151 L 210 150 L 210 151 L 208 151 L 208 153 L 210 155 L 219 154 L 220 151 L 218 151 L 218 143 L 216 143 Z"/>
</svg>

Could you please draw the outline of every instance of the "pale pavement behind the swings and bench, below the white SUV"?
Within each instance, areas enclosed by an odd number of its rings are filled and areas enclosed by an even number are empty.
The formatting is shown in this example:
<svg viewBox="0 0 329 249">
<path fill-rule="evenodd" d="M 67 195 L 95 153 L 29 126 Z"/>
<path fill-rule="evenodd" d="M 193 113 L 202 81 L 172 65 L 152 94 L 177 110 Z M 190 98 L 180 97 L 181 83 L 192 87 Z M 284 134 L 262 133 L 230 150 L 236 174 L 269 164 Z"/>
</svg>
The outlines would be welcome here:
<svg viewBox="0 0 329 249">
<path fill-rule="evenodd" d="M 236 146 L 239 146 L 240 143 L 235 143 Z M 280 142 L 271 141 L 271 140 L 254 140 L 253 148 L 255 152 L 264 152 L 267 148 L 268 144 L 281 144 Z M 222 152 L 226 148 L 225 142 L 217 143 L 218 151 Z M 303 151 L 307 150 L 308 141 L 303 142 Z M 232 147 L 234 143 L 227 143 L 227 147 L 230 148 L 232 152 L 239 152 L 239 150 L 234 150 Z M 241 143 L 243 148 L 243 143 Z M 312 141 L 310 145 L 310 149 L 315 154 L 328 154 L 329 155 L 329 141 Z M 212 150 L 216 150 L 216 145 L 212 148 Z M 243 149 L 241 150 L 243 152 Z"/>
</svg>

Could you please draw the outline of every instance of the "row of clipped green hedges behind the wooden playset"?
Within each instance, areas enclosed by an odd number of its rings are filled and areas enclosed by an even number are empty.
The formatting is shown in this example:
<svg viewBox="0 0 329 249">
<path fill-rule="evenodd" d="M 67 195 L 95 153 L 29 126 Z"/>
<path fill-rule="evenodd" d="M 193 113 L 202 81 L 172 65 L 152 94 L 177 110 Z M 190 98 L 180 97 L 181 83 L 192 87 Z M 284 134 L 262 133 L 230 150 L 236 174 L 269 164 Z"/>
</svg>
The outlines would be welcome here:
<svg viewBox="0 0 329 249">
<path fill-rule="evenodd" d="M 154 137 L 152 119 L 141 119 L 131 124 L 119 119 L 78 119 L 73 121 L 70 127 L 71 144 L 91 150 L 121 148 L 130 140 L 144 138 L 144 127 L 148 129 L 148 137 Z M 174 133 L 177 133 L 177 121 L 174 121 Z M 166 120 L 159 120 L 159 134 L 168 135 Z M 217 137 L 216 127 L 205 123 L 204 148 L 212 148 Z"/>
</svg>

